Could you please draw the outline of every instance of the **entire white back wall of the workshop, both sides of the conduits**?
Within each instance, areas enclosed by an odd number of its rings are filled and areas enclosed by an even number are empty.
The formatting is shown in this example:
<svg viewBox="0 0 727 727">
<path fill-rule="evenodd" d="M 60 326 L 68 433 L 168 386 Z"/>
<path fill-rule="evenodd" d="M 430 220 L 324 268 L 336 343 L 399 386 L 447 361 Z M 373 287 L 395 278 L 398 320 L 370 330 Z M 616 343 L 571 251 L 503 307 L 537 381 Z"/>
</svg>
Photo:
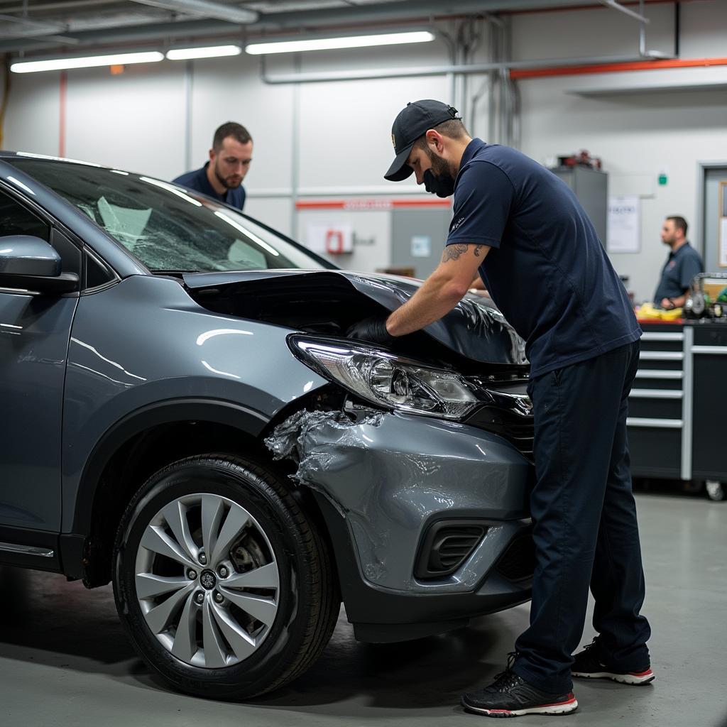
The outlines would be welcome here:
<svg viewBox="0 0 727 727">
<path fill-rule="evenodd" d="M 648 4 L 647 14 L 648 49 L 672 52 L 672 4 Z M 682 57 L 726 55 L 727 1 L 682 3 L 681 16 Z M 516 59 L 635 55 L 638 49 L 635 20 L 606 7 L 515 14 L 510 22 Z M 485 38 L 475 60 L 486 60 L 487 51 Z M 273 57 L 268 72 L 290 73 L 295 70 L 293 63 L 290 57 Z M 443 42 L 435 41 L 301 54 L 299 70 L 446 63 L 449 52 Z M 69 71 L 65 153 L 170 179 L 185 171 L 188 144 L 192 165 L 201 165 L 216 126 L 240 121 L 255 141 L 245 182 L 246 212 L 286 233 L 298 234 L 305 228 L 302 213 L 294 212 L 294 191 L 298 198 L 423 194 L 411 180 L 390 184 L 382 179 L 392 158 L 390 125 L 407 101 L 433 97 L 451 103 L 446 76 L 294 87 L 264 84 L 259 64 L 259 58 L 246 55 L 198 60 L 191 65 L 191 79 L 185 76 L 185 63 L 170 61 L 129 66 L 121 76 L 111 76 L 105 69 Z M 569 91 L 654 84 L 657 79 L 671 82 L 672 77 L 704 81 L 710 74 L 727 82 L 727 68 L 518 81 L 525 153 L 545 161 L 587 148 L 603 158 L 612 193 L 643 194 L 641 252 L 613 257 L 619 273 L 630 275 L 640 299 L 651 296 L 666 255 L 659 241 L 664 215 L 683 214 L 693 230 L 698 227 L 697 161 L 727 159 L 727 95 L 723 89 L 588 97 Z M 4 148 L 58 153 L 59 79 L 58 73 L 13 77 Z M 485 81 L 484 75 L 470 76 L 469 96 L 486 90 Z M 483 98 L 477 118 L 465 121 L 486 138 L 486 93 Z M 664 187 L 656 185 L 662 170 L 669 178 Z M 371 225 L 380 226 L 374 217 L 380 212 L 356 212 L 353 219 L 362 221 L 361 230 L 356 230 L 362 237 L 371 227 L 363 222 L 367 214 Z M 368 262 L 373 269 L 383 259 L 379 253 L 366 261 L 362 248 L 357 265 Z"/>
</svg>

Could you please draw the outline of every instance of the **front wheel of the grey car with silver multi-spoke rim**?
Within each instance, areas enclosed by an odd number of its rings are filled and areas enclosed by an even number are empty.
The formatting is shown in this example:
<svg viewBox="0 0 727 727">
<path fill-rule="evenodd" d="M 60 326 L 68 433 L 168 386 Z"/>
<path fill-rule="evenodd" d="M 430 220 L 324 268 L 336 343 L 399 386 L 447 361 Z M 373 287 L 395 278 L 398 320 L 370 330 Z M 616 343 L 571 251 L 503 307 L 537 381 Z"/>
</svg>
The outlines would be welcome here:
<svg viewBox="0 0 727 727">
<path fill-rule="evenodd" d="M 278 688 L 318 658 L 340 597 L 326 545 L 275 475 L 208 455 L 153 475 L 126 508 L 114 596 L 140 656 L 217 699 Z"/>
</svg>

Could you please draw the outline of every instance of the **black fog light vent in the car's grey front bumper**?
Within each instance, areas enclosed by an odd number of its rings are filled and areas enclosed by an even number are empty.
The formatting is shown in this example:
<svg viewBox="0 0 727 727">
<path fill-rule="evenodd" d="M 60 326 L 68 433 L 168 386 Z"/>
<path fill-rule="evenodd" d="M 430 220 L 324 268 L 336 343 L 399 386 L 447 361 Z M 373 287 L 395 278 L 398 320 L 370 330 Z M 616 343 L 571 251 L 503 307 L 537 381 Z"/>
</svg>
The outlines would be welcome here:
<svg viewBox="0 0 727 727">
<path fill-rule="evenodd" d="M 441 578 L 454 573 L 470 557 L 486 532 L 487 526 L 473 520 L 434 523 L 419 546 L 414 576 Z"/>
</svg>

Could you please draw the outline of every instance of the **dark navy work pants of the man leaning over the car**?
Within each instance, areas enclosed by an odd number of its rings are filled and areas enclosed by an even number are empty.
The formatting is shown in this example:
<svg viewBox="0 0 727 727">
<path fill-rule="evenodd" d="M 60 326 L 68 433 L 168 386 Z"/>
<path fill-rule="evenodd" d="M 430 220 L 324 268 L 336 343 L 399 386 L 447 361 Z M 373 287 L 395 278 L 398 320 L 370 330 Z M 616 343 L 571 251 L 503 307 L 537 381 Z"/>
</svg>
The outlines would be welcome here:
<svg viewBox="0 0 727 727">
<path fill-rule="evenodd" d="M 536 568 L 530 626 L 513 669 L 543 691 L 570 691 L 571 654 L 583 633 L 588 587 L 608 666 L 649 662 L 639 611 L 643 568 L 626 438 L 639 343 L 530 382 L 535 417 L 531 493 Z M 600 651 L 601 651 L 600 649 Z"/>
</svg>

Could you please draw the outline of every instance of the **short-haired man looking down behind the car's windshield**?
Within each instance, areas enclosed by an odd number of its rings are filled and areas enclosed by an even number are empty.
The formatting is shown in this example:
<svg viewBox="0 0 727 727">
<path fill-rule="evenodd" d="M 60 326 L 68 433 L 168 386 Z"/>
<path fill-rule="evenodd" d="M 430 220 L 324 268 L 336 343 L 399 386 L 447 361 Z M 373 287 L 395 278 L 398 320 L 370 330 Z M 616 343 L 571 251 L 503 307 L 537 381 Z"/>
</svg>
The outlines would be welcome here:
<svg viewBox="0 0 727 727">
<path fill-rule="evenodd" d="M 251 161 L 252 137 L 248 130 L 228 121 L 214 132 L 209 161 L 201 169 L 182 174 L 173 181 L 242 210 L 245 204 L 242 180 Z"/>
</svg>

